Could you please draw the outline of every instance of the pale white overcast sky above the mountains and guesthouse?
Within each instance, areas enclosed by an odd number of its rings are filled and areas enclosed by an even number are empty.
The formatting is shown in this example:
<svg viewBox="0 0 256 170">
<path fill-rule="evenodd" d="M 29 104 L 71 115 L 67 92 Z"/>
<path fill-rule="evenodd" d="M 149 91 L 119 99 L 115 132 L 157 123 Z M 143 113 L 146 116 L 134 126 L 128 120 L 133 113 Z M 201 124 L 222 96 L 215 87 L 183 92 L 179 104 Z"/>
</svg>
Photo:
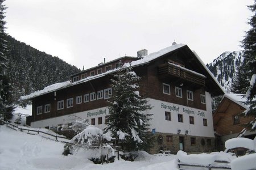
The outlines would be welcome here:
<svg viewBox="0 0 256 170">
<path fill-rule="evenodd" d="M 6 32 L 82 69 L 187 44 L 210 63 L 240 41 L 253 0 L 6 0 Z"/>
</svg>

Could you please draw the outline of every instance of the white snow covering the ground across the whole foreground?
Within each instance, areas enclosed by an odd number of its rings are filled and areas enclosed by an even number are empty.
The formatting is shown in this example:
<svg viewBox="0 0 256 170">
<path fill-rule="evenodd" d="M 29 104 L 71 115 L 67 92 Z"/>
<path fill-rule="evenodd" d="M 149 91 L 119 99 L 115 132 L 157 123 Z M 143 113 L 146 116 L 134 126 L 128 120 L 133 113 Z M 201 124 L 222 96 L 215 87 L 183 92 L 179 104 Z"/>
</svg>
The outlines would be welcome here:
<svg viewBox="0 0 256 170">
<path fill-rule="evenodd" d="M 19 128 L 22 126 L 19 126 Z M 24 127 L 27 128 L 28 127 Z M 47 129 L 40 129 L 46 131 Z M 245 138 L 235 138 L 228 143 L 227 147 L 237 146 L 245 147 Z M 252 141 L 252 140 L 251 140 Z M 249 145 L 249 144 L 248 144 Z M 255 144 L 254 144 L 255 146 Z M 250 146 L 253 144 L 250 142 Z M 255 148 L 255 147 L 254 147 Z M 214 160 L 226 160 L 230 162 L 232 169 L 245 170 L 256 168 L 256 154 L 245 155 L 236 158 L 232 153 L 212 152 L 210 154 L 191 154 L 188 155 L 179 151 L 177 155 L 155 154 L 150 155 L 144 151 L 139 152 L 139 156 L 134 162 L 117 160 L 114 163 L 103 165 L 94 164 L 88 158 L 92 152 L 79 150 L 73 155 L 64 156 L 64 143 L 56 142 L 35 134 L 27 134 L 22 131 L 15 131 L 7 128 L 5 125 L 0 126 L 0 169 L 1 170 L 39 170 L 39 169 L 102 169 L 102 170 L 126 170 L 126 169 L 172 169 L 177 170 L 177 159 L 187 164 L 212 164 Z M 248 163 L 250 162 L 250 163 Z M 216 162 L 214 163 L 217 164 Z M 191 167 L 193 168 L 193 167 Z"/>
</svg>

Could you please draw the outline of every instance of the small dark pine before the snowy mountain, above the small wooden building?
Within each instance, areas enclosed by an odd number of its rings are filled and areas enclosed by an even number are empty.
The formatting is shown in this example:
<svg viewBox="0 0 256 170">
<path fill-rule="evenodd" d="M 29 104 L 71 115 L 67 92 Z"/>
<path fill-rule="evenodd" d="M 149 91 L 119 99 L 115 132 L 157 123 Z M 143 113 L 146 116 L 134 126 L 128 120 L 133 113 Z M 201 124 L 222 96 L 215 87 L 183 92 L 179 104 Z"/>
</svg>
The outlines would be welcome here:
<svg viewBox="0 0 256 170">
<path fill-rule="evenodd" d="M 234 94 L 245 94 L 246 87 L 249 86 L 249 82 L 246 77 L 245 62 L 242 62 L 240 66 L 237 67 L 236 75 L 232 80 L 230 91 Z"/>
</svg>

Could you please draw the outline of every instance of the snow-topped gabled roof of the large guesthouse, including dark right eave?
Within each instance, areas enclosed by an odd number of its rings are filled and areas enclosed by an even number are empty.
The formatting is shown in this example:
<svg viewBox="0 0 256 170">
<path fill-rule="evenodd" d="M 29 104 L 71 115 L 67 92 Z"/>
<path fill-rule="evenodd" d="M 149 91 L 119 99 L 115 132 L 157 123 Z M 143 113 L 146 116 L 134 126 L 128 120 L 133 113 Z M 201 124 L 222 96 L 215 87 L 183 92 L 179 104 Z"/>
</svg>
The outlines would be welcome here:
<svg viewBox="0 0 256 170">
<path fill-rule="evenodd" d="M 137 61 L 132 61 L 131 63 L 125 63 L 122 68 L 126 68 L 129 66 L 136 67 L 139 65 L 144 65 L 146 63 L 150 63 L 150 62 L 154 61 L 155 59 L 157 59 L 159 57 L 162 57 L 168 53 L 175 52 L 175 50 L 180 50 L 180 49 L 185 49 L 189 53 L 189 57 L 194 57 L 193 59 L 196 59 L 196 62 L 199 63 L 199 66 L 201 66 L 203 68 L 201 70 L 206 70 L 206 71 L 204 71 L 205 72 L 204 74 L 206 74 L 205 76 L 207 76 L 207 78 L 210 79 L 210 83 L 208 83 L 207 86 L 212 87 L 211 89 L 214 89 L 215 91 L 217 91 L 216 94 L 218 94 L 218 95 L 225 94 L 225 91 L 221 87 L 220 83 L 218 83 L 217 80 L 212 75 L 212 73 L 210 73 L 209 69 L 204 65 L 203 61 L 201 61 L 199 56 L 197 56 L 197 54 L 195 52 L 192 52 L 192 50 L 190 50 L 188 48 L 188 46 L 185 44 L 175 44 L 172 46 L 168 46 L 167 48 L 159 50 L 158 52 L 151 53 L 147 56 L 143 56 L 141 59 L 138 59 Z M 27 96 L 22 96 L 22 97 L 20 97 L 20 100 L 32 99 L 34 97 L 48 94 L 48 93 L 56 91 L 56 90 L 60 90 L 60 89 L 66 88 L 66 87 L 74 86 L 76 84 L 88 82 L 90 80 L 97 79 L 102 76 L 115 73 L 116 71 L 117 71 L 117 69 L 109 70 L 102 74 L 88 76 L 85 79 L 81 79 L 81 80 L 79 80 L 77 82 L 73 82 L 73 83 L 67 81 L 67 82 L 63 82 L 63 83 L 52 84 L 51 86 L 48 86 L 48 87 L 44 88 L 43 90 L 33 92 L 32 94 L 27 95 Z"/>
</svg>

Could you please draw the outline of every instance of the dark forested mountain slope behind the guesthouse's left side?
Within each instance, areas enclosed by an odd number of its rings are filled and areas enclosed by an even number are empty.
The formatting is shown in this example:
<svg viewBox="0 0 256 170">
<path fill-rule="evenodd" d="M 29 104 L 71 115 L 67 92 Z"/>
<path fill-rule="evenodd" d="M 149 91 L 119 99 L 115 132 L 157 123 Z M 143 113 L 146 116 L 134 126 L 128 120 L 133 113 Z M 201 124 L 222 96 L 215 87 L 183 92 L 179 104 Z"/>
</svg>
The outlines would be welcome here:
<svg viewBox="0 0 256 170">
<path fill-rule="evenodd" d="M 69 75 L 80 71 L 58 57 L 40 52 L 30 45 L 7 36 L 7 74 L 21 95 L 41 90 L 50 84 L 64 82 Z"/>
</svg>

